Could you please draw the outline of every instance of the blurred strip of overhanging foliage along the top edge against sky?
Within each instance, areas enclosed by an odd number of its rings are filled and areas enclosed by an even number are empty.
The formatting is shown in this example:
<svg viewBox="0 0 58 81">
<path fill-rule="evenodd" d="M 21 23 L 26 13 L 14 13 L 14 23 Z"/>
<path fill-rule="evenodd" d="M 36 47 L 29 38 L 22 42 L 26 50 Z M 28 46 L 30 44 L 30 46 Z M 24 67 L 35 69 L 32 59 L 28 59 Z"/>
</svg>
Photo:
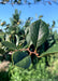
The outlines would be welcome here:
<svg viewBox="0 0 58 81">
<path fill-rule="evenodd" d="M 35 4 L 35 3 L 38 3 L 38 2 L 41 2 L 41 3 L 43 3 L 43 4 L 46 4 L 46 3 L 48 3 L 49 5 L 52 5 L 52 2 L 54 2 L 54 3 L 58 3 L 58 1 L 57 0 L 1 0 L 0 1 L 0 3 L 1 4 L 5 4 L 5 3 L 10 3 L 10 4 L 28 4 L 28 5 L 30 5 L 30 4 Z"/>
</svg>

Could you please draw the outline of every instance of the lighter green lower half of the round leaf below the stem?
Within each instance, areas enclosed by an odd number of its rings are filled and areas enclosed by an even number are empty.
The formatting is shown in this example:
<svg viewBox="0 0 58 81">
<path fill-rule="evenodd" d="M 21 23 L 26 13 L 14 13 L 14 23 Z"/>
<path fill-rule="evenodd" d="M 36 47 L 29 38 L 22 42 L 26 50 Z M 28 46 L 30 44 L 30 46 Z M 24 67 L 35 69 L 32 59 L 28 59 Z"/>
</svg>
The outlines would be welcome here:
<svg viewBox="0 0 58 81">
<path fill-rule="evenodd" d="M 18 67 L 27 69 L 30 66 L 30 64 L 31 64 L 31 57 L 26 56 L 24 59 L 21 59 L 20 62 L 18 62 L 15 65 L 18 66 Z"/>
</svg>

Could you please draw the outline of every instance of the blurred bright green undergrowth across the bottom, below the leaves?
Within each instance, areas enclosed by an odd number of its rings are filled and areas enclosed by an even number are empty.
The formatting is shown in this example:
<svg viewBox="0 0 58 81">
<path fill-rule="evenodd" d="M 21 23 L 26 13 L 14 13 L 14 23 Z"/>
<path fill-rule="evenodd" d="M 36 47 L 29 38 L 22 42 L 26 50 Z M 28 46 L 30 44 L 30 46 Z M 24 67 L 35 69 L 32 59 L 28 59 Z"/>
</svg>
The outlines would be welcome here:
<svg viewBox="0 0 58 81">
<path fill-rule="evenodd" d="M 0 72 L 0 81 L 57 81 L 58 68 L 55 67 L 57 58 L 58 56 L 56 55 L 48 56 L 49 66 L 46 66 L 46 58 L 42 57 L 35 65 L 31 64 L 28 69 L 10 64 L 6 72 Z"/>
</svg>

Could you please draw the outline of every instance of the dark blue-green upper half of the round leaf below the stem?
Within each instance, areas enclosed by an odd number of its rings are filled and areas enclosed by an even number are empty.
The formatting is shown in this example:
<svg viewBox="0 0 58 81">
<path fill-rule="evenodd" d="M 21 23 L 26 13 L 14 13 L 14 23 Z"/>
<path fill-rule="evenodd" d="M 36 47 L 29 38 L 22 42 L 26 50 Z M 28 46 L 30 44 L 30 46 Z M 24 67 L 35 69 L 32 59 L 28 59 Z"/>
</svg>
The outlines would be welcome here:
<svg viewBox="0 0 58 81">
<path fill-rule="evenodd" d="M 20 51 L 15 52 L 13 54 L 14 64 L 18 63 L 19 60 L 21 60 L 26 56 L 28 56 L 28 53 L 27 52 L 20 52 Z"/>
</svg>

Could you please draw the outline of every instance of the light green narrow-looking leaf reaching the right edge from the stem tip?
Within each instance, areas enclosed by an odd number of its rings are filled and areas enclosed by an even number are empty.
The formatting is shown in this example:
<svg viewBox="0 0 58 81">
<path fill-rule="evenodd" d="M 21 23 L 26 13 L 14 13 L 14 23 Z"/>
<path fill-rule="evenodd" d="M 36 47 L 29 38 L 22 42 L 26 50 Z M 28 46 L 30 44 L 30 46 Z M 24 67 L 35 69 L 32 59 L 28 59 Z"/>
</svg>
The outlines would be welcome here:
<svg viewBox="0 0 58 81">
<path fill-rule="evenodd" d="M 55 54 L 55 53 L 58 53 L 58 43 L 54 44 L 46 52 L 42 53 L 40 57 L 43 57 L 43 56 L 46 56 L 46 55 L 50 55 L 50 54 Z"/>
</svg>

